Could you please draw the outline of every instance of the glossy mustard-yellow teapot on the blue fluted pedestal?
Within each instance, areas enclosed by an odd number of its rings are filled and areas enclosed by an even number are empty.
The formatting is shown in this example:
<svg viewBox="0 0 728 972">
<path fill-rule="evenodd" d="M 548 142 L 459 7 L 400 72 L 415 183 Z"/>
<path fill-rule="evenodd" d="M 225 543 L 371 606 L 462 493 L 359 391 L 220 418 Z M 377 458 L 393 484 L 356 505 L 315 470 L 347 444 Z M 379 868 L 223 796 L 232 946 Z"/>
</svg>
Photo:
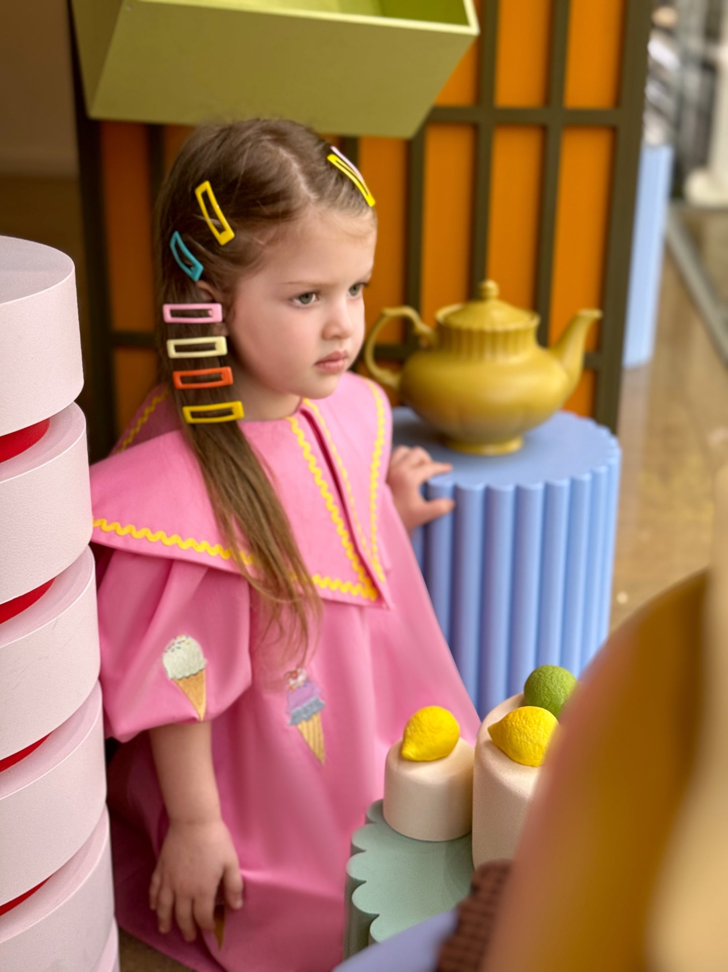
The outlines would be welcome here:
<svg viewBox="0 0 728 972">
<path fill-rule="evenodd" d="M 550 350 L 536 343 L 539 315 L 498 299 L 492 280 L 480 298 L 443 307 L 429 328 L 412 307 L 385 308 L 364 346 L 364 361 L 382 385 L 434 426 L 460 452 L 515 452 L 523 433 L 546 422 L 577 386 L 586 333 L 600 310 L 581 310 Z M 375 362 L 377 335 L 406 317 L 420 348 L 399 373 Z"/>
</svg>

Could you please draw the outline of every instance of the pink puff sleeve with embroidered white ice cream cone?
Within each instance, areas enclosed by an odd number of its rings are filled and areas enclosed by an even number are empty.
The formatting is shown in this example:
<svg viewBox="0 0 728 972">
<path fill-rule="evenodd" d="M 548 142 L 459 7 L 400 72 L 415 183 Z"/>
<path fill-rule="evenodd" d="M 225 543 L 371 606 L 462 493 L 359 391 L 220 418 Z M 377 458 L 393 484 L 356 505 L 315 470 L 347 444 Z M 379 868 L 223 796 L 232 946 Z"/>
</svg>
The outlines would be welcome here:
<svg viewBox="0 0 728 972">
<path fill-rule="evenodd" d="M 240 698 L 251 680 L 243 577 L 95 552 L 107 735 L 125 743 L 154 726 L 214 719 Z"/>
</svg>

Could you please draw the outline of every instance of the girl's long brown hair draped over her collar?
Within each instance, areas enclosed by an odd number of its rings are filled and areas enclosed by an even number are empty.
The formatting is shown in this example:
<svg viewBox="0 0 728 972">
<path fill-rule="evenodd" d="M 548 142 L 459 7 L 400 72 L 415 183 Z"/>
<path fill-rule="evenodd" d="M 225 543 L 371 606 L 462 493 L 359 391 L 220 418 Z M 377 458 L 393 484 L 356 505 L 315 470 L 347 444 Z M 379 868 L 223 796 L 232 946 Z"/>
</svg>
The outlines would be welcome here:
<svg viewBox="0 0 728 972">
<path fill-rule="evenodd" d="M 211 287 L 229 321 L 237 283 L 255 271 L 266 249 L 307 210 L 369 214 L 370 220 L 376 219 L 361 192 L 326 160 L 329 151 L 327 142 L 293 121 L 255 119 L 198 128 L 183 145 L 164 182 L 154 220 L 160 379 L 170 390 L 182 432 L 200 464 L 220 532 L 240 572 L 261 595 L 266 627 L 275 624 L 279 635 L 285 629 L 280 660 L 288 665 L 300 664 L 308 652 L 312 622 L 320 612 L 314 582 L 270 479 L 248 443 L 245 427 L 237 422 L 188 425 L 183 421 L 182 405 L 229 400 L 231 389 L 182 392 L 174 387 L 176 362 L 167 356 L 167 339 L 209 336 L 212 328 L 195 322 L 166 324 L 161 305 L 210 300 L 174 259 L 170 239 L 175 231 L 202 263 L 201 280 Z M 195 197 L 195 188 L 206 180 L 235 231 L 224 246 L 217 243 Z M 212 216 L 209 204 L 208 211 Z M 234 354 L 230 344 L 228 351 Z M 224 361 L 201 358 L 185 360 L 183 367 L 219 364 Z"/>
</svg>

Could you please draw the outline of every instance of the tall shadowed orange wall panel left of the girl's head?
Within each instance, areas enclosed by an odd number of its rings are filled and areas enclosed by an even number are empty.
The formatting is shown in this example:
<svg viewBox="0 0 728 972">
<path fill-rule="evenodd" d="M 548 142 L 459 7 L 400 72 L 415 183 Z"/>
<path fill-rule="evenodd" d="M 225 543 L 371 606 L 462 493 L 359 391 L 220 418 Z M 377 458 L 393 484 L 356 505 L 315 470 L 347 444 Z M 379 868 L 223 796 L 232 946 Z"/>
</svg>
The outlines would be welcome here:
<svg viewBox="0 0 728 972">
<path fill-rule="evenodd" d="M 143 124 L 101 124 L 109 296 L 114 330 L 153 330 L 149 152 Z"/>
</svg>

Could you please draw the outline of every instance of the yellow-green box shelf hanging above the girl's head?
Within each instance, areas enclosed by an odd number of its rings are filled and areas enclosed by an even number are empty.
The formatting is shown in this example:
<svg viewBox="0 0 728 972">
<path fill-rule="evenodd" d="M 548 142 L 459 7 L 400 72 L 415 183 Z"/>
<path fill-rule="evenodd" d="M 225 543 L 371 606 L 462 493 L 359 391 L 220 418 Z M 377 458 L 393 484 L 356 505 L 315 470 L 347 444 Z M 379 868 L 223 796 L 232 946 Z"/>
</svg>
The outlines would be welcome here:
<svg viewBox="0 0 728 972">
<path fill-rule="evenodd" d="M 478 36 L 473 0 L 72 0 L 90 118 L 285 117 L 410 138 Z"/>
</svg>

